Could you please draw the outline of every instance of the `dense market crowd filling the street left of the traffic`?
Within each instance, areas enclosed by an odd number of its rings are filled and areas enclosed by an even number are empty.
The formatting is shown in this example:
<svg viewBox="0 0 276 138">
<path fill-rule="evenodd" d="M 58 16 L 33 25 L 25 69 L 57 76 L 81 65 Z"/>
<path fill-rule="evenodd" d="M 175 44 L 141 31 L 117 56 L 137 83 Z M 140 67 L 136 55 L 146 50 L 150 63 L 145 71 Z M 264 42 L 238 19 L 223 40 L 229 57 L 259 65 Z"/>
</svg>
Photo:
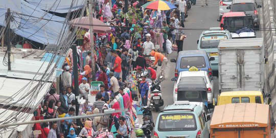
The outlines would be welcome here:
<svg viewBox="0 0 276 138">
<path fill-rule="evenodd" d="M 146 78 L 156 79 L 156 66 L 161 66 L 160 75 L 166 77 L 166 56 L 172 51 L 181 51 L 186 37 L 181 30 L 183 15 L 187 14 L 185 1 L 179 0 L 175 5 L 179 8 L 167 11 L 142 8 L 145 3 L 129 1 L 127 14 L 123 1 L 112 1 L 112 8 L 107 1 L 96 4 L 96 17 L 110 25 L 112 32 L 94 33 L 93 51 L 90 34 L 83 35 L 82 45 L 78 46 L 78 66 L 73 66 L 70 49 L 63 65 L 64 72 L 34 115 L 36 120 L 74 117 L 77 101 L 80 101 L 78 116 L 104 113 L 109 108 L 127 111 L 82 119 L 81 124 L 74 119 L 37 123 L 34 130 L 41 130 L 37 137 L 131 136 L 137 119 L 136 107 L 146 106 L 148 102 Z M 91 53 L 95 56 L 91 57 Z M 149 57 L 155 57 L 155 61 Z M 95 68 L 92 68 L 91 58 L 96 61 Z M 73 67 L 78 67 L 78 82 L 73 81 Z M 93 70 L 100 83 L 92 81 Z M 145 70 L 148 76 L 141 75 Z M 75 89 L 75 83 L 79 89 Z M 75 97 L 77 90 L 80 100 Z"/>
</svg>

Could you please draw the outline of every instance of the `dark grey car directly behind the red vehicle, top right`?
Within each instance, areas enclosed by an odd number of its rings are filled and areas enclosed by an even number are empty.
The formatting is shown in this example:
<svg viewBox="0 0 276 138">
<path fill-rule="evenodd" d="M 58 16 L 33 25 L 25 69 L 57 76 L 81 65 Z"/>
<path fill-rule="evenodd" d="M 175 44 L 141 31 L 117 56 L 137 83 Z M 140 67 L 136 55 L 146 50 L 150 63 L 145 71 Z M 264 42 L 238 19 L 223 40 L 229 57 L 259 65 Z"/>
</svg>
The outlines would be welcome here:
<svg viewBox="0 0 276 138">
<path fill-rule="evenodd" d="M 231 9 L 231 12 L 245 12 L 246 15 L 251 15 L 254 19 L 254 27 L 259 29 L 260 19 L 257 8 L 261 8 L 261 5 L 257 5 L 256 0 L 233 0 L 232 5 L 227 9 Z"/>
</svg>

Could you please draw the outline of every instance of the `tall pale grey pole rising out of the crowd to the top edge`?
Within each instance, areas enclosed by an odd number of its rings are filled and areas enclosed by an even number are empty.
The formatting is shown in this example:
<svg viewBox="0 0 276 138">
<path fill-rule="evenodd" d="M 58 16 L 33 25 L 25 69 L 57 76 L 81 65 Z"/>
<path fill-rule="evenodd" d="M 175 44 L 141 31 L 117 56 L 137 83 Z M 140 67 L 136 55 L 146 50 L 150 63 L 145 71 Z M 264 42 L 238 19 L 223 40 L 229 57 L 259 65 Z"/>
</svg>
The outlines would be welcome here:
<svg viewBox="0 0 276 138">
<path fill-rule="evenodd" d="M 91 68 L 92 68 L 92 81 L 96 81 L 95 71 L 95 55 L 94 55 L 94 33 L 93 33 L 93 13 L 94 13 L 94 0 L 89 0 L 89 23 L 90 23 L 90 45 L 91 45 Z"/>
</svg>

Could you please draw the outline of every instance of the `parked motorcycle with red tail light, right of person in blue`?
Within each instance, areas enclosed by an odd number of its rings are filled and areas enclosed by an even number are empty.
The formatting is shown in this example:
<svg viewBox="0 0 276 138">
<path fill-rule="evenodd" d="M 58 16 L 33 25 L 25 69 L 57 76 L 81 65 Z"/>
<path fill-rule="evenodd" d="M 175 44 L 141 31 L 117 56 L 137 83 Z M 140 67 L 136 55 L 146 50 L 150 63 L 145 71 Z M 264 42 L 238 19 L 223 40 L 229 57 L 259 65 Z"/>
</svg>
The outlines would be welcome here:
<svg viewBox="0 0 276 138">
<path fill-rule="evenodd" d="M 163 78 L 161 76 L 160 78 Z M 162 98 L 162 93 L 161 93 L 161 85 L 160 83 L 163 80 L 155 80 L 155 83 L 152 84 L 150 87 L 150 103 L 154 106 L 155 111 L 157 112 L 159 110 L 159 107 L 164 105 L 164 100 Z"/>
</svg>

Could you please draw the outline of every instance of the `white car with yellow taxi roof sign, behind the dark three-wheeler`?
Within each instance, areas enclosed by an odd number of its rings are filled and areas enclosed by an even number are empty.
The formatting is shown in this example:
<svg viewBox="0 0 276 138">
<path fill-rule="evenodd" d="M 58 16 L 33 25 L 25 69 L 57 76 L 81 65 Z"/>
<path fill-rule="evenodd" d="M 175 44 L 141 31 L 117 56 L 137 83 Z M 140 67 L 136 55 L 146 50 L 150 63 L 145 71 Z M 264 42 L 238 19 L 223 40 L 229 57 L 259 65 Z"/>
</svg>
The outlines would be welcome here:
<svg viewBox="0 0 276 138">
<path fill-rule="evenodd" d="M 176 81 L 174 78 L 172 78 L 172 81 L 175 81 L 173 86 L 173 101 L 177 101 L 177 85 L 179 80 L 183 77 L 191 78 L 191 80 L 196 77 L 204 79 L 206 88 L 208 89 L 208 104 L 212 107 L 214 98 L 214 82 L 206 71 L 183 71 L 179 73 Z"/>
</svg>

